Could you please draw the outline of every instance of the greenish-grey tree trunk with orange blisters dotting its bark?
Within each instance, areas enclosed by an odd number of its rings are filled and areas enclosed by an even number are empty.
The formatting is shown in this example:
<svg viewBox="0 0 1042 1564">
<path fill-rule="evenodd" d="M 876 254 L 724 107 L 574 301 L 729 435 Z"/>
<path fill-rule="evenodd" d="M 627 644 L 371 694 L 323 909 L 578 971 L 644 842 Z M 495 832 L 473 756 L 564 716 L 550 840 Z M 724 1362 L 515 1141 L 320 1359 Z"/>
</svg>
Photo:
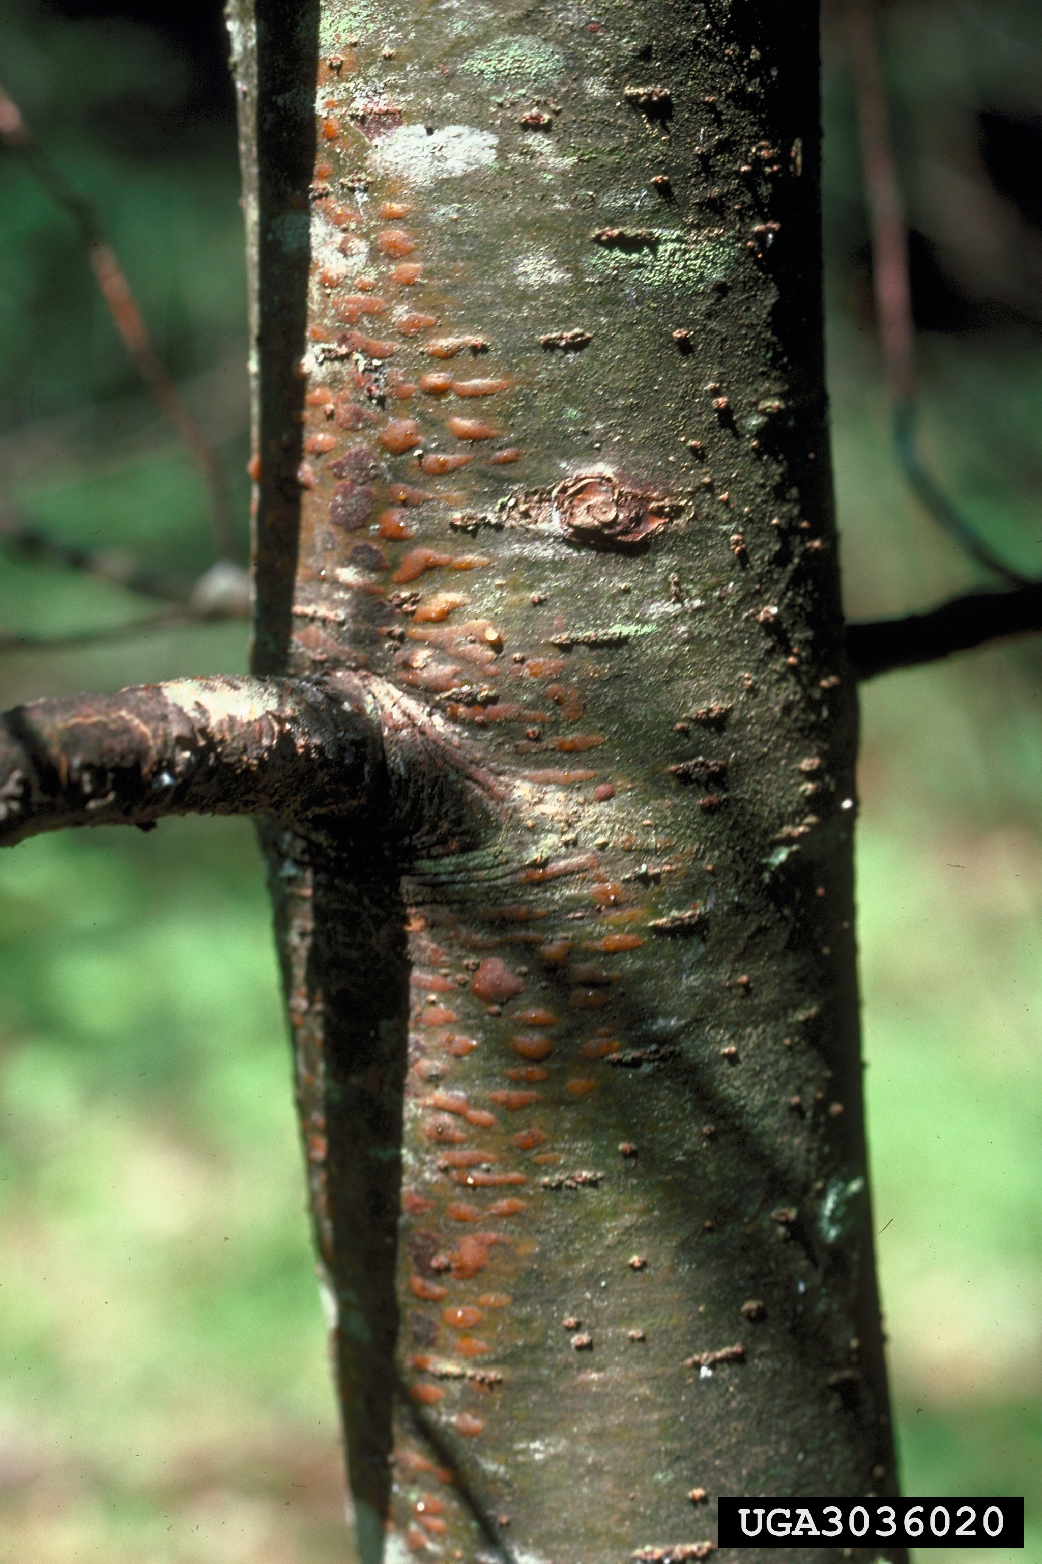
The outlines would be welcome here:
<svg viewBox="0 0 1042 1564">
<path fill-rule="evenodd" d="M 19 830 L 266 812 L 362 1564 L 895 1489 L 817 8 L 597 17 L 231 0 L 248 741 L 8 724 Z"/>
</svg>

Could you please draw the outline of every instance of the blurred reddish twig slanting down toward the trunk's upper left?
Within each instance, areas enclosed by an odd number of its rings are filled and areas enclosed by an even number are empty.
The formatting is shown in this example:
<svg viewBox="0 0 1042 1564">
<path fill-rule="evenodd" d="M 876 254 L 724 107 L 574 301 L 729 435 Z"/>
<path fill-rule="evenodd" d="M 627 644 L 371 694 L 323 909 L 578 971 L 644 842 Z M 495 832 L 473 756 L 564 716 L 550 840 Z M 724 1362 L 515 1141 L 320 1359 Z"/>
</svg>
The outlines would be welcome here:
<svg viewBox="0 0 1042 1564">
<path fill-rule="evenodd" d="M 156 353 L 137 300 L 94 206 L 69 185 L 58 164 L 52 163 L 50 156 L 39 147 L 17 103 L 3 88 L 0 88 L 0 141 L 14 152 L 22 153 L 42 189 L 77 224 L 95 282 L 112 316 L 116 330 L 123 341 L 123 347 L 153 397 L 173 424 L 206 483 L 209 519 L 217 552 L 222 558 L 231 558 L 234 552 L 231 504 L 217 454 L 203 425 L 183 400 L 162 360 Z"/>
</svg>

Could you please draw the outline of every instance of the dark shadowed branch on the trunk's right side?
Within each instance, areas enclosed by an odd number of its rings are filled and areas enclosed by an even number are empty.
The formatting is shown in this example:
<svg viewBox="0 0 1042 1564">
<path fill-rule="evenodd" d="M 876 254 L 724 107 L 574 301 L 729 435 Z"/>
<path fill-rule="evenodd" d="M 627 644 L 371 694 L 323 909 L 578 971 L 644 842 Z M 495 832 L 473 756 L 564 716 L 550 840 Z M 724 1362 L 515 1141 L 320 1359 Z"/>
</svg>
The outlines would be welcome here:
<svg viewBox="0 0 1042 1564">
<path fill-rule="evenodd" d="M 919 668 L 986 641 L 1042 630 L 1042 582 L 1014 591 L 976 591 L 905 619 L 847 626 L 847 655 L 859 680 Z"/>
</svg>

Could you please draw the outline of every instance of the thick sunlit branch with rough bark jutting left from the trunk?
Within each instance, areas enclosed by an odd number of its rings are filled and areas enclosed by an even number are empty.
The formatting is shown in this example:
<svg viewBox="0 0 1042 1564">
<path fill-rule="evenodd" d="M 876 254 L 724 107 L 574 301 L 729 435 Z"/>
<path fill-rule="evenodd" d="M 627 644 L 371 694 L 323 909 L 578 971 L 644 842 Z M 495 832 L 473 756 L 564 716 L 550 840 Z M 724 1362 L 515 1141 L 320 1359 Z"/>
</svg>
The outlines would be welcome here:
<svg viewBox="0 0 1042 1564">
<path fill-rule="evenodd" d="M 380 718 L 348 674 L 34 701 L 0 716 L 0 845 L 166 815 L 345 820 L 383 766 Z"/>
</svg>

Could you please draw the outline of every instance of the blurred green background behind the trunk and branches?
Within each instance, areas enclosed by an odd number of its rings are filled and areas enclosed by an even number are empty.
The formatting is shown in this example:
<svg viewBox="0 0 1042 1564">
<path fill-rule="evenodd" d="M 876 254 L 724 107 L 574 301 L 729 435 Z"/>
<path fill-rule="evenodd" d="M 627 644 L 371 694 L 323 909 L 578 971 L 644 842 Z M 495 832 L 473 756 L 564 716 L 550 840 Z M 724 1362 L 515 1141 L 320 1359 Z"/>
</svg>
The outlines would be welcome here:
<svg viewBox="0 0 1042 1564">
<path fill-rule="evenodd" d="M 595 13 L 591 13 L 595 14 Z M 1042 16 L 900 0 L 887 77 L 930 461 L 1042 574 Z M 848 608 L 975 580 L 897 471 L 845 34 L 825 25 L 830 382 Z M 0 80 L 103 216 L 234 486 L 247 388 L 233 102 L 206 0 L 0 0 Z M 205 496 L 77 236 L 0 156 L 0 499 L 55 536 L 211 560 Z M 0 633 L 137 619 L 0 544 Z M 245 666 L 245 629 L 0 657 L 0 701 Z M 864 691 L 870 1139 L 903 1483 L 1026 1494 L 1042 1559 L 1042 640 Z M 252 830 L 0 857 L 0 1555 L 342 1558 L 336 1419 Z"/>
</svg>

